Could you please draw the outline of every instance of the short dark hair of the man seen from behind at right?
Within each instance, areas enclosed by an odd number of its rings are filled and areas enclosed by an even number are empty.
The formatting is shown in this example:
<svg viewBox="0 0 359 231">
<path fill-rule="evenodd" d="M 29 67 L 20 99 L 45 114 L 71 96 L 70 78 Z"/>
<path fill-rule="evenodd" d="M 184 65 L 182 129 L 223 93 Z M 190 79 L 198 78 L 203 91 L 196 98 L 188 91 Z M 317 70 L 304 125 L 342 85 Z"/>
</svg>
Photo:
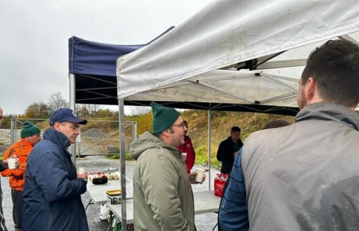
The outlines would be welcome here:
<svg viewBox="0 0 359 231">
<path fill-rule="evenodd" d="M 359 103 L 359 46 L 347 40 L 329 40 L 309 55 L 302 85 L 309 77 L 317 82 L 324 102 L 346 107 Z"/>
</svg>

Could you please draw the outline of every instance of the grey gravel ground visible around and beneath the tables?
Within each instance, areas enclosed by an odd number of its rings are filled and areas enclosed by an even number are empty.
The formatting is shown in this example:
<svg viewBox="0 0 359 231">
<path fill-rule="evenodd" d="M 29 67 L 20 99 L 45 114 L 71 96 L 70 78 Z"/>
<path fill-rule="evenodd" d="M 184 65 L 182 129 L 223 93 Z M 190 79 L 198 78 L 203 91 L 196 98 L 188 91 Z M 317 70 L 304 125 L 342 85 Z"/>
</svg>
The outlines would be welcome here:
<svg viewBox="0 0 359 231">
<path fill-rule="evenodd" d="M 133 168 L 134 168 L 134 161 L 127 161 L 126 162 L 126 177 L 132 179 L 133 177 Z M 76 165 L 79 167 L 85 167 L 88 171 L 95 171 L 95 170 L 102 170 L 105 168 L 118 168 L 119 161 L 118 160 L 110 160 L 103 156 L 90 156 L 84 159 L 76 160 Z M 200 166 L 194 166 L 200 167 Z M 213 181 L 215 174 L 218 171 L 216 169 L 211 169 L 211 188 L 213 189 Z M 208 190 L 208 172 L 206 172 L 207 179 L 204 184 L 196 184 L 192 185 L 193 191 L 203 191 Z M 8 179 L 1 178 L 1 185 L 3 188 L 3 209 L 4 209 L 4 216 L 6 220 L 6 226 L 9 231 L 14 230 L 14 224 L 12 222 L 12 202 L 11 202 L 11 191 L 8 187 Z M 89 202 L 90 198 L 87 193 L 82 195 L 82 201 L 84 206 Z M 89 224 L 89 228 L 91 231 L 105 231 L 109 225 L 108 221 L 102 221 L 99 219 L 99 210 L 100 207 L 98 205 L 91 204 L 86 210 L 87 220 Z M 210 231 L 217 223 L 217 214 L 215 213 L 208 213 L 208 214 L 201 214 L 195 216 L 195 224 L 198 231 Z M 215 229 L 217 230 L 217 229 Z"/>
</svg>

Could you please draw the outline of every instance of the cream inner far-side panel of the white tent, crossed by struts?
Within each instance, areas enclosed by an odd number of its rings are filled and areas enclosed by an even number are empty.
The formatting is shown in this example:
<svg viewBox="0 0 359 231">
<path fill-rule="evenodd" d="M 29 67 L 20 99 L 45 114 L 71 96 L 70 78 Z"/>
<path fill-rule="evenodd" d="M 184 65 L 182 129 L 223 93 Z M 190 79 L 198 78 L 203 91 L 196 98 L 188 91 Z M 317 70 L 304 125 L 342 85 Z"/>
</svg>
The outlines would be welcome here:
<svg viewBox="0 0 359 231">
<path fill-rule="evenodd" d="M 178 101 L 296 107 L 298 80 L 265 72 L 214 70 L 126 97 L 129 101 Z M 238 90 L 240 89 L 240 90 Z M 202 96 L 202 97 L 198 97 Z M 258 102 L 255 102 L 258 101 Z M 207 109 L 207 108 L 204 108 Z"/>
</svg>

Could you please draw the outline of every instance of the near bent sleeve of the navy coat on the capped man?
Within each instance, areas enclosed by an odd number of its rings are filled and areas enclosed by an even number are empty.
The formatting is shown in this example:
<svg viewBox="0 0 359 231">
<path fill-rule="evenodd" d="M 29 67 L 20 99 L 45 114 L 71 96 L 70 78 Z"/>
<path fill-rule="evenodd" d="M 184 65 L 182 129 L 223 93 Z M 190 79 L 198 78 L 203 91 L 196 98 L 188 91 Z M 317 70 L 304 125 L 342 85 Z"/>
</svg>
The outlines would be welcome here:
<svg viewBox="0 0 359 231">
<path fill-rule="evenodd" d="M 45 153 L 34 165 L 32 177 L 48 201 L 75 198 L 86 191 L 87 181 L 69 180 L 65 164 L 52 152 Z"/>
</svg>

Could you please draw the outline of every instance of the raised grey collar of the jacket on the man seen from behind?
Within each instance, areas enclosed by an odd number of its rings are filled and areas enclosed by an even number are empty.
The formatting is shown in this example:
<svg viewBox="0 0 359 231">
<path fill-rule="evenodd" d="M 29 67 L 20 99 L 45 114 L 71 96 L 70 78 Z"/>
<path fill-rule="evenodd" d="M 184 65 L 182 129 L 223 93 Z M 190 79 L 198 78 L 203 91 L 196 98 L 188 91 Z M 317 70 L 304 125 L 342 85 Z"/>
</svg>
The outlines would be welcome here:
<svg viewBox="0 0 359 231">
<path fill-rule="evenodd" d="M 304 120 L 337 121 L 359 131 L 358 113 L 334 103 L 314 103 L 305 106 L 296 115 L 295 122 Z"/>
</svg>

